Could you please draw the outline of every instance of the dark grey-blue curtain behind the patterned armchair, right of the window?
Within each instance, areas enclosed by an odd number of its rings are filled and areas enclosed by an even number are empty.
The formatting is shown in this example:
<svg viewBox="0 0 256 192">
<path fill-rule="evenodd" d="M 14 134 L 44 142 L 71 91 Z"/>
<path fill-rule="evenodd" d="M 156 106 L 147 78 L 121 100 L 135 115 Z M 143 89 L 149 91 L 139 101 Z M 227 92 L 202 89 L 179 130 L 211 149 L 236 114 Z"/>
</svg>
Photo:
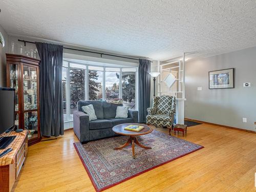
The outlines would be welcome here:
<svg viewBox="0 0 256 192">
<path fill-rule="evenodd" d="M 146 122 L 150 107 L 150 60 L 139 59 L 139 122 Z"/>
</svg>

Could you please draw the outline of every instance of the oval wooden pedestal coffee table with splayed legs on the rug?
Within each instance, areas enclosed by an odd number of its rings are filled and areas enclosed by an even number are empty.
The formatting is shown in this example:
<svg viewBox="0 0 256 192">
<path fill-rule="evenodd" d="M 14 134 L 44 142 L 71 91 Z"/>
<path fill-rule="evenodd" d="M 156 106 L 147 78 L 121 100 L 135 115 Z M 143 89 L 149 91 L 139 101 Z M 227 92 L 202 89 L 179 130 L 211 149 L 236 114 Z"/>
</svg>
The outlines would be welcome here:
<svg viewBox="0 0 256 192">
<path fill-rule="evenodd" d="M 124 127 L 128 126 L 128 125 L 139 125 L 139 126 L 144 126 L 144 128 L 142 130 L 140 130 L 139 132 L 135 132 L 135 131 L 129 131 L 129 130 L 124 130 Z M 134 143 L 136 143 L 137 145 L 139 145 L 142 148 L 151 148 L 148 146 L 144 146 L 142 145 L 136 138 L 136 136 L 139 135 L 146 135 L 149 134 L 153 131 L 153 129 L 145 124 L 139 124 L 139 123 L 124 123 L 124 124 L 119 124 L 116 125 L 112 128 L 112 130 L 120 135 L 127 135 L 130 136 L 130 138 L 127 140 L 126 143 L 124 143 L 122 146 L 120 147 L 116 147 L 114 148 L 114 150 L 120 150 L 121 148 L 126 147 L 127 145 L 129 145 L 130 143 L 132 144 L 132 150 L 133 150 L 133 158 L 135 158 L 135 153 L 134 153 Z"/>
</svg>

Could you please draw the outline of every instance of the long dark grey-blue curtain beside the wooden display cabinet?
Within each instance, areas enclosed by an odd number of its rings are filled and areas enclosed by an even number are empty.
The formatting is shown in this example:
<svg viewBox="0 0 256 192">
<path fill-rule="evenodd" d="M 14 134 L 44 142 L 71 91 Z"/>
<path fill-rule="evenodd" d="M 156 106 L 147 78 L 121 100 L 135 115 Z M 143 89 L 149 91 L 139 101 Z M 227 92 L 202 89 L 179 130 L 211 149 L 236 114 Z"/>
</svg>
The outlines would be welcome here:
<svg viewBox="0 0 256 192">
<path fill-rule="evenodd" d="M 63 46 L 36 42 L 40 56 L 39 96 L 42 136 L 63 135 L 62 53 Z"/>
</svg>

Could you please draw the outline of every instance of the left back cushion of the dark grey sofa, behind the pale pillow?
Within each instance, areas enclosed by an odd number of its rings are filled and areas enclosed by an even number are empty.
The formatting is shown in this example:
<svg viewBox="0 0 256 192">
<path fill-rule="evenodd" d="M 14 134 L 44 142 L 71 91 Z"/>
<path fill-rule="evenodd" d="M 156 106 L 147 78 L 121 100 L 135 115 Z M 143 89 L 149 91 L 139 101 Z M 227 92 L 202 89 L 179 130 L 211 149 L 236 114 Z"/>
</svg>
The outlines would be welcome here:
<svg viewBox="0 0 256 192">
<path fill-rule="evenodd" d="M 93 105 L 97 119 L 104 119 L 102 101 L 82 101 L 82 100 L 80 100 L 77 102 L 78 111 L 82 111 L 82 106 L 86 106 L 89 104 Z"/>
</svg>

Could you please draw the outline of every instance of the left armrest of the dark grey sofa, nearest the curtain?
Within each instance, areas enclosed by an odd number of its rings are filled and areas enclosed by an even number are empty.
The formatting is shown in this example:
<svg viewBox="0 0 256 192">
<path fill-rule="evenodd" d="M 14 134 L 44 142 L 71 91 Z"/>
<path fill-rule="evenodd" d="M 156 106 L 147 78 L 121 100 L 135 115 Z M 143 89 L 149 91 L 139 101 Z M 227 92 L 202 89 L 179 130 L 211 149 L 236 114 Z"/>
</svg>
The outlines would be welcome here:
<svg viewBox="0 0 256 192">
<path fill-rule="evenodd" d="M 89 141 L 89 115 L 73 111 L 74 133 L 80 142 Z"/>
</svg>

